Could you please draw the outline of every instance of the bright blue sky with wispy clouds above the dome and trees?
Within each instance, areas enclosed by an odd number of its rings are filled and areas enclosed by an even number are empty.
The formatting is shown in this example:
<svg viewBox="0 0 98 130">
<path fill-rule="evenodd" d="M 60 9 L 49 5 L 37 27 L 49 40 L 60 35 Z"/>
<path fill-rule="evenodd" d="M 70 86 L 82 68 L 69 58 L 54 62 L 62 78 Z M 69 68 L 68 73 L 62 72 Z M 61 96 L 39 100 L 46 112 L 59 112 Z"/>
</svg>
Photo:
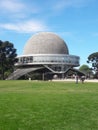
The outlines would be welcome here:
<svg viewBox="0 0 98 130">
<path fill-rule="evenodd" d="M 0 40 L 12 42 L 18 55 L 43 31 L 59 35 L 80 65 L 87 64 L 98 51 L 98 0 L 0 0 Z"/>
</svg>

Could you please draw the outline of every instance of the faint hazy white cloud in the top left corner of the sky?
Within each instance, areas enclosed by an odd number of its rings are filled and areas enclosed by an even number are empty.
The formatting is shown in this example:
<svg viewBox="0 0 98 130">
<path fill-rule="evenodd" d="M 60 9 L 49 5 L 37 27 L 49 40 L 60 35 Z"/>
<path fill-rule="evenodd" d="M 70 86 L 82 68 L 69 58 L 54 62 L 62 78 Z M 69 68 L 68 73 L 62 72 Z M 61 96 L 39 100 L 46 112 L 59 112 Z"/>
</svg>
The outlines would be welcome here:
<svg viewBox="0 0 98 130">
<path fill-rule="evenodd" d="M 22 0 L 0 0 L 0 12 L 8 13 L 39 13 L 40 6 L 34 2 L 26 2 Z"/>
</svg>

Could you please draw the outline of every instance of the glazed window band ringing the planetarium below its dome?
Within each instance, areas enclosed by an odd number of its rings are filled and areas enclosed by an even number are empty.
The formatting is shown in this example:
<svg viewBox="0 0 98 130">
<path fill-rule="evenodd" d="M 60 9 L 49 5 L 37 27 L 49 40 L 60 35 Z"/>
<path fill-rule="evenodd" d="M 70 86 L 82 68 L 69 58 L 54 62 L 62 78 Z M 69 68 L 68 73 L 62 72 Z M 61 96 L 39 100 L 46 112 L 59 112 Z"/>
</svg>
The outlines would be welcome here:
<svg viewBox="0 0 98 130">
<path fill-rule="evenodd" d="M 65 62 L 79 64 L 79 58 L 75 56 L 28 56 L 19 57 L 18 63 L 34 63 L 34 62 Z"/>
</svg>

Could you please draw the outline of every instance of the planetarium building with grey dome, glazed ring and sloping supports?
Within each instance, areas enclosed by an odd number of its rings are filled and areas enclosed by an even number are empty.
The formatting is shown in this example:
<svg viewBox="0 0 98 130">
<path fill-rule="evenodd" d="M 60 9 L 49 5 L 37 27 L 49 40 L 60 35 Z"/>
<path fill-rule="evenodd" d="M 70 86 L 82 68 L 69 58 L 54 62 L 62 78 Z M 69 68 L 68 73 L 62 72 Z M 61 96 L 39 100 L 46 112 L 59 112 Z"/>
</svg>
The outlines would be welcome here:
<svg viewBox="0 0 98 130">
<path fill-rule="evenodd" d="M 79 66 L 80 58 L 70 55 L 66 42 L 51 32 L 33 35 L 24 46 L 23 55 L 17 57 L 16 70 L 9 79 L 65 78 L 66 72 Z"/>
</svg>

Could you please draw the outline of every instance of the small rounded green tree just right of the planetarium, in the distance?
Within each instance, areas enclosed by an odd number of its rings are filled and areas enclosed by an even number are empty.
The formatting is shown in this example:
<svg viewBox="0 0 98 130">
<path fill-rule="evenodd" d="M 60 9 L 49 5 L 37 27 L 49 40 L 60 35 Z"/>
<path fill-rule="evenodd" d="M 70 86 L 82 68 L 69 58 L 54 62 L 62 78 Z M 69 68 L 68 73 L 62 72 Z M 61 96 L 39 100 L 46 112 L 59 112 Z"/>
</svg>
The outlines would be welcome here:
<svg viewBox="0 0 98 130">
<path fill-rule="evenodd" d="M 89 68 L 88 65 L 82 65 L 80 66 L 79 70 L 83 73 L 85 73 L 85 75 L 90 78 L 90 76 L 93 74 L 92 70 Z"/>
</svg>

